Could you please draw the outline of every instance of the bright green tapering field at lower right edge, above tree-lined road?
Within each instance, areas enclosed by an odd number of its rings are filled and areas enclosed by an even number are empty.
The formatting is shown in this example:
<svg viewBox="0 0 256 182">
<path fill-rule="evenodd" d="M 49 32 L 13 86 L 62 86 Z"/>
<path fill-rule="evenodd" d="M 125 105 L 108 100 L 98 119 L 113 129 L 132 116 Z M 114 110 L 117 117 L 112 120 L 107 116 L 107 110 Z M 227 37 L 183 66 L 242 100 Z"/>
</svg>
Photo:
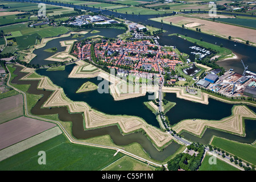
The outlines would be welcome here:
<svg viewBox="0 0 256 182">
<path fill-rule="evenodd" d="M 256 165 L 256 147 L 250 144 L 244 144 L 239 142 L 234 142 L 232 140 L 214 137 L 212 142 L 210 143 L 212 146 L 216 146 L 221 148 L 222 150 L 229 152 L 229 154 L 233 154 L 238 156 L 247 162 L 250 162 Z"/>
</svg>

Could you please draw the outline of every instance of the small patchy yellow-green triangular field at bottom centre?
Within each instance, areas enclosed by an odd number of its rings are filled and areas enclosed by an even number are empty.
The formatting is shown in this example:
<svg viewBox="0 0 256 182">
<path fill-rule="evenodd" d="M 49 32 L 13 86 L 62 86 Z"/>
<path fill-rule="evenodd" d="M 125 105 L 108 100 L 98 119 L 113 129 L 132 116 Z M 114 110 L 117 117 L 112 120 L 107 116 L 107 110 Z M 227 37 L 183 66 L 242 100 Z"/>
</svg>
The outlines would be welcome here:
<svg viewBox="0 0 256 182">
<path fill-rule="evenodd" d="M 104 168 L 104 171 L 154 171 L 155 168 L 147 166 L 138 160 L 123 156 L 121 159 L 115 161 L 110 166 Z"/>
</svg>

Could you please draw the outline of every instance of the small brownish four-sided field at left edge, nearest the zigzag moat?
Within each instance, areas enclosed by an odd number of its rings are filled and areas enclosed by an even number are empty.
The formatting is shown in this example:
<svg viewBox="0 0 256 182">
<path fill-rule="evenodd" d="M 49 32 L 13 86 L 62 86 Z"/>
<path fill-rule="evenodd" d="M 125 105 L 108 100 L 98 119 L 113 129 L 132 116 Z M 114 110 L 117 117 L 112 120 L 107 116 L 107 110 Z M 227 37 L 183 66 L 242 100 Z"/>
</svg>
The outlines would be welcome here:
<svg viewBox="0 0 256 182">
<path fill-rule="evenodd" d="M 23 97 L 21 94 L 0 100 L 0 123 L 23 115 Z"/>
</svg>

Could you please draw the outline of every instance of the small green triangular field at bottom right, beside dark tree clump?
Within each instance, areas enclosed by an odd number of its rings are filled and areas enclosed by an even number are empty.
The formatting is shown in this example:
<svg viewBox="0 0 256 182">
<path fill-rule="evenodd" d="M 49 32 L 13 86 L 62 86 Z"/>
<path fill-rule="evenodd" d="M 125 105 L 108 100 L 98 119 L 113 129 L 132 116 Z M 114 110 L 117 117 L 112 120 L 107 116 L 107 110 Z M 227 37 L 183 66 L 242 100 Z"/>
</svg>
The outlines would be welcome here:
<svg viewBox="0 0 256 182">
<path fill-rule="evenodd" d="M 209 158 L 210 155 L 207 154 L 199 167 L 199 171 L 240 171 L 236 167 L 233 167 L 218 158 L 216 164 L 210 165 L 208 162 Z"/>
</svg>

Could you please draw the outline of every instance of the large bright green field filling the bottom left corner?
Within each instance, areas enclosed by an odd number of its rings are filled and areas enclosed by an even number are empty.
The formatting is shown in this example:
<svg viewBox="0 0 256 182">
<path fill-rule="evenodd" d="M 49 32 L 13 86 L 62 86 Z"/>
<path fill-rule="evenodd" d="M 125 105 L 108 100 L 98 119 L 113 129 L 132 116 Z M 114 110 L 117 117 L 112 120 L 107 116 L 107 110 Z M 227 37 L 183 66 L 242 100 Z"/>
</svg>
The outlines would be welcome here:
<svg viewBox="0 0 256 182">
<path fill-rule="evenodd" d="M 39 151 L 46 152 L 46 165 L 39 165 Z M 114 150 L 70 143 L 64 134 L 31 147 L 0 162 L 0 170 L 97 171 L 121 158 Z"/>
</svg>

